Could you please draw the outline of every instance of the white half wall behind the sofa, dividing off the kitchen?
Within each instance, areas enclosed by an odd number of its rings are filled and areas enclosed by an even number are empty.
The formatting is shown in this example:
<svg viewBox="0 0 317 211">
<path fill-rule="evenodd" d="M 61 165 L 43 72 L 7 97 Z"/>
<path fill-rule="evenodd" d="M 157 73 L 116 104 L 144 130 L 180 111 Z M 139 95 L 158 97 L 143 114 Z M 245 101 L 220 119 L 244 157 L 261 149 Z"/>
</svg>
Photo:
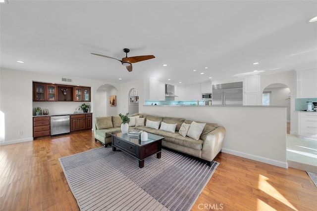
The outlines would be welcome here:
<svg viewBox="0 0 317 211">
<path fill-rule="evenodd" d="M 140 113 L 217 123 L 223 152 L 288 168 L 286 108 L 270 106 L 140 106 Z"/>
</svg>

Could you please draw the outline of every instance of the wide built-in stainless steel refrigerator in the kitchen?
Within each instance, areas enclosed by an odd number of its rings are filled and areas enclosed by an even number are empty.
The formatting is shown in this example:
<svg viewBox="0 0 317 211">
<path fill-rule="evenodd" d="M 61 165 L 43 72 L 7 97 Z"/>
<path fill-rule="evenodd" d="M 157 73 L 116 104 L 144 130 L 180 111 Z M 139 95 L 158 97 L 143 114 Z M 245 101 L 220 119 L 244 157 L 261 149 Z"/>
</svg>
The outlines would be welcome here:
<svg viewBox="0 0 317 211">
<path fill-rule="evenodd" d="M 212 105 L 242 105 L 242 82 L 212 85 Z"/>
</svg>

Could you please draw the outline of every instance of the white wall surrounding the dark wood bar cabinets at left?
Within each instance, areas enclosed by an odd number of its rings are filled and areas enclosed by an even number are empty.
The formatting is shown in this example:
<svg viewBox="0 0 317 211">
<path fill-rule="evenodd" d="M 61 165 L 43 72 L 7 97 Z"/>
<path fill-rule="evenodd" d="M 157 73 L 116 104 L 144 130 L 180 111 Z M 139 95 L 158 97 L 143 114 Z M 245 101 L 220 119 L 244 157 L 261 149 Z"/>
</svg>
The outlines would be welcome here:
<svg viewBox="0 0 317 211">
<path fill-rule="evenodd" d="M 26 71 L 0 69 L 0 111 L 4 115 L 4 138 L 0 139 L 0 145 L 18 143 L 33 140 L 33 85 L 32 81 L 82 85 L 91 87 L 91 112 L 94 112 L 94 101 L 96 90 L 105 82 L 72 78 L 73 83 L 62 83 L 62 76 L 46 75 Z M 69 77 L 64 77 L 69 78 Z M 112 84 L 119 87 L 118 84 Z M 50 114 L 73 113 L 75 108 L 81 103 L 75 102 L 51 102 L 52 105 L 42 102 L 41 107 L 50 108 Z M 35 103 L 38 105 L 38 102 Z M 93 116 L 94 118 L 94 116 Z M 1 125 L 1 124 L 0 124 Z M 1 128 L 3 129 L 3 128 Z M 0 131 L 1 131 L 0 129 Z M 23 131 L 23 135 L 18 135 L 18 131 Z M 1 136 L 0 136 L 1 137 Z"/>
</svg>

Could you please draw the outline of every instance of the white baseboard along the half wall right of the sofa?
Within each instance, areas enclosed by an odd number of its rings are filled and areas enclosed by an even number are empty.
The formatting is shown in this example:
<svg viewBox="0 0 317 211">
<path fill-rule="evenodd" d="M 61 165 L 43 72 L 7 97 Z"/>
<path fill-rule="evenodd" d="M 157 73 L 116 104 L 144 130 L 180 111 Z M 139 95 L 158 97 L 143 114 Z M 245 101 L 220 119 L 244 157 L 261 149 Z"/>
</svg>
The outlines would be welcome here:
<svg viewBox="0 0 317 211">
<path fill-rule="evenodd" d="M 288 169 L 288 163 L 287 162 L 276 161 L 276 160 L 272 160 L 272 159 L 269 159 L 269 158 L 263 158 L 263 157 L 259 157 L 259 156 L 256 156 L 256 155 L 250 155 L 250 154 L 247 154 L 247 153 L 238 152 L 238 151 L 225 149 L 225 148 L 222 148 L 221 151 L 224 152 L 224 153 L 228 153 L 228 154 L 231 154 L 231 155 L 236 155 L 236 156 L 239 156 L 239 157 L 242 157 L 242 158 L 247 158 L 247 159 L 251 159 L 251 160 L 254 160 L 254 161 L 259 161 L 259 162 L 262 162 L 262 163 L 265 163 L 265 164 L 270 164 L 270 165 L 273 165 L 273 166 L 277 166 L 277 167 L 282 167 L 282 168 Z"/>
</svg>

